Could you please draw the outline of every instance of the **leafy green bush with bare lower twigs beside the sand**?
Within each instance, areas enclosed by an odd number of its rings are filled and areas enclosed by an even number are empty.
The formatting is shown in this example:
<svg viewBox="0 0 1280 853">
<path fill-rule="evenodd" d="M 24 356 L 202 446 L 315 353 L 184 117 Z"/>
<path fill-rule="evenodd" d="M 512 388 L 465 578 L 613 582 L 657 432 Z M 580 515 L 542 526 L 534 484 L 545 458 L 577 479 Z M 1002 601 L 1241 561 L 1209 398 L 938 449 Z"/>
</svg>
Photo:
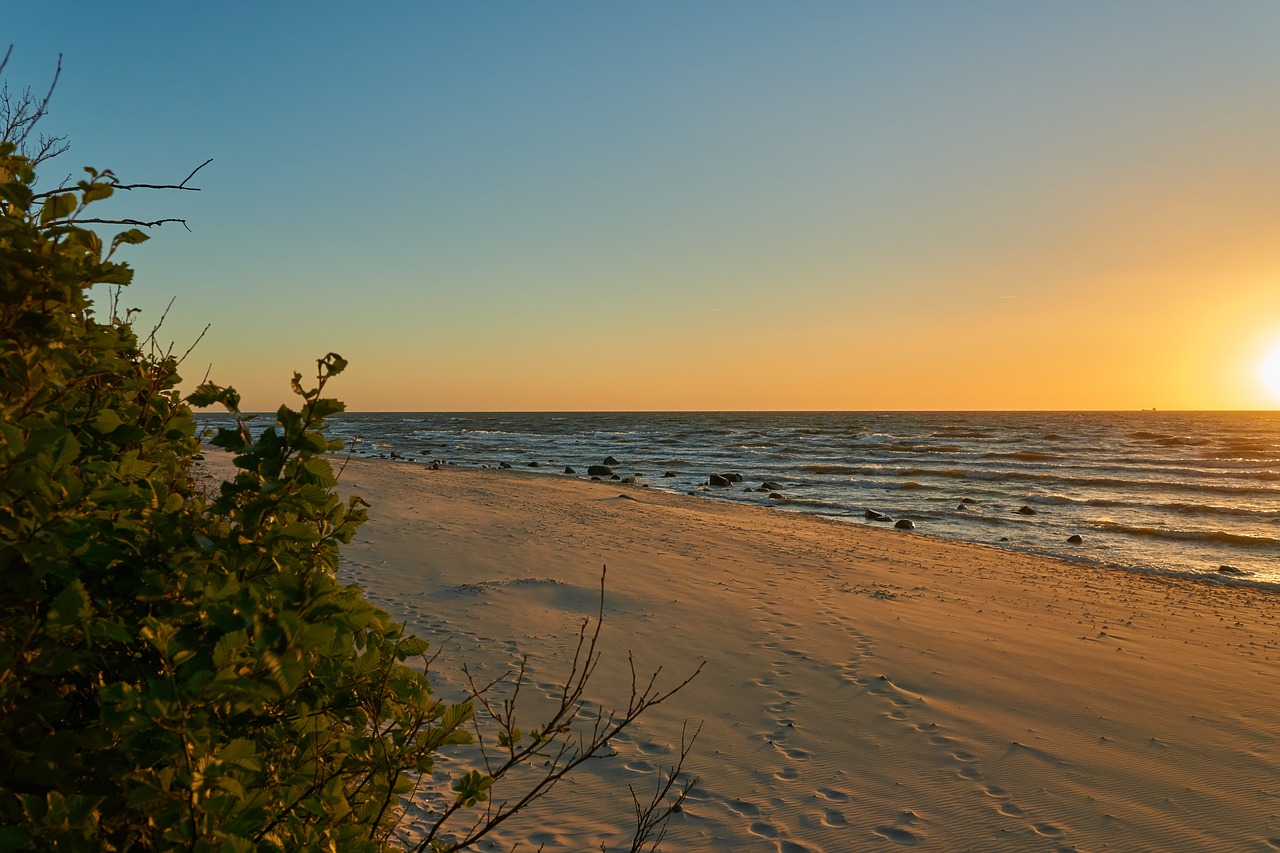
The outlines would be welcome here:
<svg viewBox="0 0 1280 853">
<path fill-rule="evenodd" d="M 436 751 L 480 738 L 412 840 L 457 849 L 687 684 L 632 674 L 625 710 L 575 730 L 596 621 L 559 708 L 531 730 L 493 685 L 435 699 L 426 643 L 335 579 L 367 506 L 338 496 L 325 457 L 339 443 L 324 419 L 343 406 L 324 391 L 346 361 L 319 360 L 311 387 L 294 374 L 297 407 L 256 437 L 234 391 L 206 383 L 184 401 L 155 332 L 140 341 L 118 298 L 96 313 L 95 286 L 132 277 L 116 251 L 146 240 L 104 243 L 77 224 L 114 175 L 33 182 L 0 142 L 0 850 L 387 849 Z M 237 414 L 211 439 L 237 473 L 206 492 L 191 406 L 212 403 Z M 499 799 L 508 774 L 522 781 Z M 632 850 L 662 840 L 691 786 L 673 792 L 677 776 L 678 763 L 652 799 L 632 793 Z"/>
</svg>

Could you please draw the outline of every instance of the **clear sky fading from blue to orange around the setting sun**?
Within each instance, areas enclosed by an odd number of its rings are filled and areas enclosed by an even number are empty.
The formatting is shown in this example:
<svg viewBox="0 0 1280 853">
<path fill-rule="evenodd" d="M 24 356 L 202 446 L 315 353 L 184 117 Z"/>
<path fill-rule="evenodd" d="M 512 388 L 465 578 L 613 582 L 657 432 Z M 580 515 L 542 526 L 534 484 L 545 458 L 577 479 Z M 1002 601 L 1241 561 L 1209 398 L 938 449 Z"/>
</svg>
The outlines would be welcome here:
<svg viewBox="0 0 1280 853">
<path fill-rule="evenodd" d="M 187 387 L 365 411 L 1280 406 L 1280 3 L 5 13 Z M 0 45 L 3 47 L 3 45 Z M 1263 365 L 1272 364 L 1268 374 Z"/>
</svg>

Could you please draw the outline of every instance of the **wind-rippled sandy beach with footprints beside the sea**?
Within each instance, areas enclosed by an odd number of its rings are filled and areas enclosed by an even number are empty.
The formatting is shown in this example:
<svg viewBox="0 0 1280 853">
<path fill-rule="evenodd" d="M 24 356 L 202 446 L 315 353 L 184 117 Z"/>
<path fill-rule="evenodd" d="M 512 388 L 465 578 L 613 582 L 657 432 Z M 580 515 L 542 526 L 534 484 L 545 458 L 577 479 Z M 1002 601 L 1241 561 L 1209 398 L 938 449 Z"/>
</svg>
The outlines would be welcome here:
<svg viewBox="0 0 1280 853">
<path fill-rule="evenodd" d="M 1280 849 L 1274 592 L 571 476 L 342 480 L 372 505 L 343 573 L 443 649 L 443 698 L 525 657 L 536 717 L 603 566 L 593 701 L 626 702 L 627 652 L 664 684 L 705 661 L 481 849 L 616 849 L 686 720 L 668 850 Z"/>
</svg>

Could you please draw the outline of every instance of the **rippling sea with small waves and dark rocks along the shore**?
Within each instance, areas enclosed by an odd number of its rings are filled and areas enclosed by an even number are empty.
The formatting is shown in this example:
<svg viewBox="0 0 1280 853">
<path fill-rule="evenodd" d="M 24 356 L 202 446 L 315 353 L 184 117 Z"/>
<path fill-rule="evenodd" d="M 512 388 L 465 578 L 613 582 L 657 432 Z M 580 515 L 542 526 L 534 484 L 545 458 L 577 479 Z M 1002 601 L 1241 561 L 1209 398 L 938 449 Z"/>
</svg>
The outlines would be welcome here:
<svg viewBox="0 0 1280 853">
<path fill-rule="evenodd" d="M 1280 589 L 1276 411 L 351 412 L 326 432 L 361 457 L 544 476 L 612 456 L 654 489 Z"/>
</svg>

